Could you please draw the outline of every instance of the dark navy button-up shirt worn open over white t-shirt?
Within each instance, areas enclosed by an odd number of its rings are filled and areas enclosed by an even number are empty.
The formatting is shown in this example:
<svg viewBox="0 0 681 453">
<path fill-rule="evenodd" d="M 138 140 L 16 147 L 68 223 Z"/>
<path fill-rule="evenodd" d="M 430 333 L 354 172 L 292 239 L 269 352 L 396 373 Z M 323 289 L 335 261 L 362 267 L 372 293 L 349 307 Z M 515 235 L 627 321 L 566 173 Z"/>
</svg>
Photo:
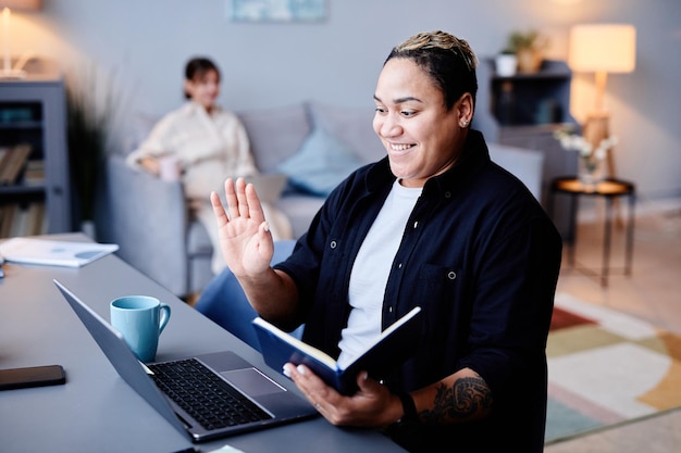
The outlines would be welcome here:
<svg viewBox="0 0 681 453">
<path fill-rule="evenodd" d="M 395 176 L 387 158 L 351 174 L 329 197 L 293 255 L 304 340 L 337 356 L 349 313 L 352 263 Z M 418 352 L 385 385 L 412 391 L 470 367 L 490 386 L 484 420 L 420 427 L 412 451 L 543 451 L 546 338 L 561 239 L 532 193 L 490 160 L 471 130 L 453 168 L 429 179 L 395 255 L 383 328 L 423 310 Z"/>
</svg>

